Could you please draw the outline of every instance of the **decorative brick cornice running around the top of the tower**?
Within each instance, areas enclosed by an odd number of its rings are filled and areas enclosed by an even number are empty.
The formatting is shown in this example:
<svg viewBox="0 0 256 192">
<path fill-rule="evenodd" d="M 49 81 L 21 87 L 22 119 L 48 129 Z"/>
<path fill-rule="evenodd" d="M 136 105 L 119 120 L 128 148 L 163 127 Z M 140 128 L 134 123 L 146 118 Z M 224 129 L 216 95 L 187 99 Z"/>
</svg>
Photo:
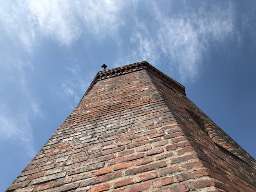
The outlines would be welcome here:
<svg viewBox="0 0 256 192">
<path fill-rule="evenodd" d="M 167 84 L 169 84 L 171 87 L 174 87 L 180 93 L 186 95 L 185 87 L 183 85 L 181 85 L 177 81 L 173 80 L 172 78 L 170 78 L 166 74 L 162 73 L 161 71 L 159 71 L 158 69 L 156 69 L 155 67 L 153 67 L 152 65 L 150 65 L 146 61 L 140 61 L 140 62 L 133 63 L 133 64 L 130 64 L 130 65 L 125 65 L 125 66 L 122 66 L 122 67 L 116 67 L 116 68 L 108 69 L 108 70 L 105 70 L 105 71 L 99 71 L 97 73 L 97 75 L 95 76 L 94 80 L 92 81 L 91 85 L 88 87 L 88 90 L 85 92 L 85 95 L 90 91 L 90 89 L 92 89 L 92 87 L 99 80 L 103 80 L 103 79 L 106 79 L 106 78 L 111 78 L 111 77 L 115 77 L 115 76 L 119 76 L 119 75 L 132 73 L 132 72 L 139 71 L 139 70 L 142 70 L 142 69 L 146 69 L 146 70 L 150 71 L 151 73 L 153 73 L 157 76 L 161 76 L 162 80 L 164 80 Z"/>
</svg>

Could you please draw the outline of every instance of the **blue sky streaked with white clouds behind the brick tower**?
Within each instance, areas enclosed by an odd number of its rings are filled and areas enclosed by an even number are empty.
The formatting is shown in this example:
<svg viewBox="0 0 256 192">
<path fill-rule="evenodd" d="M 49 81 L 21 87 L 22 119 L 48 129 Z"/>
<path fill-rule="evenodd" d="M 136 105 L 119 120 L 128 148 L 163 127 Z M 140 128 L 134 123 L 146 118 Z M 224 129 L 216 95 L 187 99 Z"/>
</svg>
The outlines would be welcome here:
<svg viewBox="0 0 256 192">
<path fill-rule="evenodd" d="M 101 65 L 148 61 L 256 158 L 255 1 L 0 2 L 0 191 Z"/>
</svg>

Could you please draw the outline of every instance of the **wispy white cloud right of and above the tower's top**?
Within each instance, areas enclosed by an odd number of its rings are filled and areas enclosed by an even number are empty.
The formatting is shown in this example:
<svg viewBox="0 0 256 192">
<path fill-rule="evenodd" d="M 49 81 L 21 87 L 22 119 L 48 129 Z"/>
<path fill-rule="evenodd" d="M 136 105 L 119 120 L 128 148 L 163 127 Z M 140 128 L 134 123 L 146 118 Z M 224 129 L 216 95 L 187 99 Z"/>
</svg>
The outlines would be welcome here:
<svg viewBox="0 0 256 192">
<path fill-rule="evenodd" d="M 212 4 L 186 11 L 175 7 L 163 9 L 161 4 L 150 2 L 150 21 L 135 17 L 130 44 L 136 45 L 127 57 L 159 63 L 161 55 L 182 81 L 194 80 L 200 74 L 202 60 L 213 45 L 222 46 L 237 37 L 234 26 L 236 13 L 232 3 Z M 173 11 L 173 13 L 172 13 Z"/>
</svg>

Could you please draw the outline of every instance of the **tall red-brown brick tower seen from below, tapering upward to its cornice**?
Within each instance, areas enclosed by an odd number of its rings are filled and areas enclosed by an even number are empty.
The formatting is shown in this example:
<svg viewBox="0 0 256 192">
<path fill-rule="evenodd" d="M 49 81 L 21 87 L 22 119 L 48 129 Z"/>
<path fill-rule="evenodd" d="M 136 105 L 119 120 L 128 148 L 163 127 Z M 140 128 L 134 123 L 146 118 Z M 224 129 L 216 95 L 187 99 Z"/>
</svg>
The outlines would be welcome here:
<svg viewBox="0 0 256 192">
<path fill-rule="evenodd" d="M 142 61 L 99 72 L 12 191 L 255 192 L 256 161 Z"/>
</svg>

